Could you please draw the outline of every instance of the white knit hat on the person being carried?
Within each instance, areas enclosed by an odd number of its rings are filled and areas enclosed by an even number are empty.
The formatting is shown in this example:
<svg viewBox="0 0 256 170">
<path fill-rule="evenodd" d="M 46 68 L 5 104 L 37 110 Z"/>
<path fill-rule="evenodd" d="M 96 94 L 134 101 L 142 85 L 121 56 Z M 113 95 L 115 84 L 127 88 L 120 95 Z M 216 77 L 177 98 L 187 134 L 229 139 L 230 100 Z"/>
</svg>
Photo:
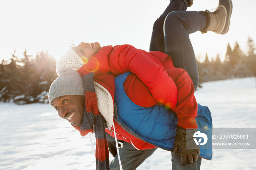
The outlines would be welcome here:
<svg viewBox="0 0 256 170">
<path fill-rule="evenodd" d="M 57 61 L 56 72 L 60 76 L 60 70 L 64 67 L 71 68 L 75 71 L 79 70 L 84 65 L 83 60 L 76 52 L 70 48 L 66 51 L 61 58 Z"/>
</svg>

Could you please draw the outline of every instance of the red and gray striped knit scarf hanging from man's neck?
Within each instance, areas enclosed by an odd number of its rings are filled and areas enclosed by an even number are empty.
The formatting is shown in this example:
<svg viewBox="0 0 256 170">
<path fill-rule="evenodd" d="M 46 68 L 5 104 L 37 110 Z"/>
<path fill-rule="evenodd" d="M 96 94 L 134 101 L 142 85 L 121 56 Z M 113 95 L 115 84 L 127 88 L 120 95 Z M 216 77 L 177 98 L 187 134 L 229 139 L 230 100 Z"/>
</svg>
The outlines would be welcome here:
<svg viewBox="0 0 256 170">
<path fill-rule="evenodd" d="M 96 169 L 109 170 L 109 150 L 105 132 L 105 122 L 97 107 L 93 76 L 94 73 L 89 73 L 82 76 L 85 93 L 84 116 L 80 129 L 78 127 L 75 128 L 79 130 L 82 136 L 85 136 L 89 132 L 93 133 L 94 125 L 96 137 Z"/>
</svg>

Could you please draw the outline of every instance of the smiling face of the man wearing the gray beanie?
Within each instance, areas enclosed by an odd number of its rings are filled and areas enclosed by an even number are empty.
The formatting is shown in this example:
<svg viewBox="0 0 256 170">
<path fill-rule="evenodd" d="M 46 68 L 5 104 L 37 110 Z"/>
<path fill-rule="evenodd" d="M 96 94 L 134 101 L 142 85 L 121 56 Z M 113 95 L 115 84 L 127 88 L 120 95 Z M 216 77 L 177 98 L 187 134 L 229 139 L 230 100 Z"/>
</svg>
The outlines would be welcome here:
<svg viewBox="0 0 256 170">
<path fill-rule="evenodd" d="M 58 111 L 58 115 L 68 120 L 73 126 L 83 122 L 84 96 L 67 95 L 55 98 L 51 105 Z"/>
</svg>

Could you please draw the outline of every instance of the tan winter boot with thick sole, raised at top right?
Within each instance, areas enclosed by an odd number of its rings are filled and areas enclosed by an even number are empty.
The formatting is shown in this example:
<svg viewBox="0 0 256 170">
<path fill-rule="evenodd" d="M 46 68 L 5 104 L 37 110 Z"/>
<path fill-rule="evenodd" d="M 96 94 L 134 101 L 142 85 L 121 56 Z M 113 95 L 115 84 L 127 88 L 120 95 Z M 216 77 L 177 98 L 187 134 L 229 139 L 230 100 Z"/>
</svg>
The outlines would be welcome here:
<svg viewBox="0 0 256 170">
<path fill-rule="evenodd" d="M 229 31 L 230 16 L 232 13 L 231 0 L 219 0 L 219 6 L 216 11 L 205 11 L 207 23 L 202 34 L 207 31 L 213 31 L 217 34 L 226 34 Z"/>
</svg>

